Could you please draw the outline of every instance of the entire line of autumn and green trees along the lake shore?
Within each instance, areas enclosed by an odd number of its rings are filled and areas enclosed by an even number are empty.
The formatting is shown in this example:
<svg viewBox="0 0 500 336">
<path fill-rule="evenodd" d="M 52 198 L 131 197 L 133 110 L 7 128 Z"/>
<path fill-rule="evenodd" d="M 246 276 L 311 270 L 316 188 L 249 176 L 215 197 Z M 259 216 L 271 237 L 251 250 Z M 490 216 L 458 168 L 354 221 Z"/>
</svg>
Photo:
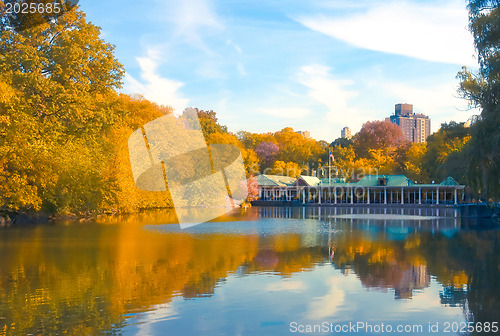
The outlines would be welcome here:
<svg viewBox="0 0 500 336">
<path fill-rule="evenodd" d="M 332 151 L 339 168 L 334 173 L 346 180 L 359 178 L 360 171 L 405 174 L 418 182 L 451 175 L 482 198 L 498 198 L 500 14 L 497 1 L 473 1 L 469 9 L 480 72 L 464 69 L 459 78 L 464 97 L 482 110 L 470 128 L 444 124 L 422 145 L 402 142 L 390 123 L 368 122 L 352 141 L 328 144 L 291 128 L 234 134 L 215 112 L 199 111 L 207 142 L 239 147 L 248 175 L 327 177 Z M 15 18 L 0 18 L 0 214 L 171 206 L 168 193 L 136 188 L 127 139 L 172 109 L 118 93 L 123 66 L 83 12 L 22 31 L 17 25 Z"/>
</svg>

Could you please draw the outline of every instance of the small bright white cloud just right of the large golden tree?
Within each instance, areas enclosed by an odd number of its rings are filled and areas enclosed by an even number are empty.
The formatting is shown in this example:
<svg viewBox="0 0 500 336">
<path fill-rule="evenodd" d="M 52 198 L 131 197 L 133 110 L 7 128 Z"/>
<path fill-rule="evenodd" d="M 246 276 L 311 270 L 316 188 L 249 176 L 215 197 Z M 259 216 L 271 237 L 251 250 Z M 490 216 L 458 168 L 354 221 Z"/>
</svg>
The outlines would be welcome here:
<svg viewBox="0 0 500 336">
<path fill-rule="evenodd" d="M 161 77 L 158 74 L 159 55 L 153 49 L 148 50 L 148 56 L 137 57 L 141 68 L 141 79 L 135 79 L 129 73 L 125 74 L 124 91 L 139 93 L 146 99 L 161 105 L 172 106 L 176 113 L 181 113 L 188 105 L 189 99 L 184 98 L 179 89 L 184 83 Z"/>
</svg>

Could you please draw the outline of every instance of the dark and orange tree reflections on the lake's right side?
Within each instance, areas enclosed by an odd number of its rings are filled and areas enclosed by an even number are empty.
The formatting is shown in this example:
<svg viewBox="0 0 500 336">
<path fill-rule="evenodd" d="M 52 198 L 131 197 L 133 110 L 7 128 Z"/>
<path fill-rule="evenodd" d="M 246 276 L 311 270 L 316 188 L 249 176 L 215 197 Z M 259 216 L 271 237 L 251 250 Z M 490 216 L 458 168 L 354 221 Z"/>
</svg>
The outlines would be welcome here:
<svg viewBox="0 0 500 336">
<path fill-rule="evenodd" d="M 337 237 L 334 266 L 354 271 L 365 287 L 393 289 L 396 298 L 410 298 L 432 275 L 443 286 L 443 305 L 463 307 L 469 321 L 500 321 L 499 231 L 457 231 L 452 237 L 417 232 L 404 241 L 388 240 L 383 232 L 366 237 L 359 230 Z"/>
</svg>

